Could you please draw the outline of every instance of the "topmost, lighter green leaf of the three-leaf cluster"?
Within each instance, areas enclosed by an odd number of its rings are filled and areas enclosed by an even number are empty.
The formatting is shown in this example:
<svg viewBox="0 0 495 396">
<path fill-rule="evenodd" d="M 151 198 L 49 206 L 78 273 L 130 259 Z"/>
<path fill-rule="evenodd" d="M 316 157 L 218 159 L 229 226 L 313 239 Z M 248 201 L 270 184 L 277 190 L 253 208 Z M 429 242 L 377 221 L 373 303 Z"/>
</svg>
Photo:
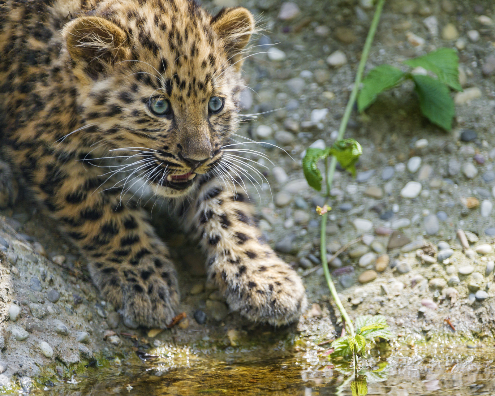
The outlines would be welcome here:
<svg viewBox="0 0 495 396">
<path fill-rule="evenodd" d="M 427 55 L 409 59 L 404 62 L 411 67 L 421 66 L 435 73 L 438 80 L 456 91 L 462 91 L 459 84 L 459 57 L 451 48 L 441 48 Z"/>
</svg>

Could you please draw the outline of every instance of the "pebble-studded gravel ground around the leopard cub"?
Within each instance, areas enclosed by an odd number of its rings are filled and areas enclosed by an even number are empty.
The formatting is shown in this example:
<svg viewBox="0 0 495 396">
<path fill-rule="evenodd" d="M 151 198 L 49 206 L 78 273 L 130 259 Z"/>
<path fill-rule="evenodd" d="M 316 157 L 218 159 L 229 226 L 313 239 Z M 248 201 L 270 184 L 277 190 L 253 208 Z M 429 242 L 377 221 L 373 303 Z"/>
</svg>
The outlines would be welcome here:
<svg viewBox="0 0 495 396">
<path fill-rule="evenodd" d="M 304 181 L 300 159 L 308 146 L 331 145 L 336 138 L 372 17 L 370 3 L 241 2 L 261 15 L 265 29 L 253 48 L 263 53 L 245 63 L 247 85 L 255 93 L 243 92 L 243 112 L 268 113 L 246 117 L 235 139 L 263 141 L 242 147 L 260 150 L 275 164 L 247 155 L 266 178 L 255 183 L 257 192 L 249 190 L 266 239 L 305 278 L 313 305 L 299 330 L 315 342 L 333 334 L 335 307 L 321 269 L 312 271 L 320 262 L 314 207 L 324 199 Z M 401 62 L 410 57 L 458 49 L 464 92 L 455 94 L 454 126 L 447 133 L 427 122 L 408 84 L 349 121 L 346 137 L 360 142 L 363 155 L 355 179 L 336 172 L 327 250 L 361 240 L 330 265 L 351 316 L 387 316 L 399 343 L 447 336 L 468 347 L 493 344 L 494 20 L 495 6 L 488 0 L 387 1 L 366 69 L 389 63 L 405 70 Z M 116 335 L 105 341 L 105 331 L 136 330 L 125 328 L 113 307 L 101 301 L 84 259 L 55 225 L 26 201 L 1 215 L 0 386 L 13 376 L 29 385 L 40 367 L 70 379 L 80 362 L 128 351 L 132 343 Z M 161 216 L 153 213 L 165 235 L 170 230 L 162 229 Z M 156 336 L 154 345 L 231 340 L 229 330 L 249 328 L 204 284 L 203 260 L 187 246 L 186 236 L 168 240 L 188 317 Z"/>
</svg>

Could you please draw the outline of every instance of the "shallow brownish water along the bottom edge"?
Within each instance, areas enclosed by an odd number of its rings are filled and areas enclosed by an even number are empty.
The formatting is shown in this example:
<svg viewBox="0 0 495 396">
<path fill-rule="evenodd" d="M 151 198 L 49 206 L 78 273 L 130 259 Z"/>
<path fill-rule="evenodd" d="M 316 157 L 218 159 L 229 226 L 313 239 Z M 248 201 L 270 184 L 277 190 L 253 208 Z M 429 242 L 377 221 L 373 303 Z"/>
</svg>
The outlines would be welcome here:
<svg viewBox="0 0 495 396">
<path fill-rule="evenodd" d="M 285 336 L 284 336 L 285 337 Z M 258 341 L 258 340 L 256 340 Z M 472 345 L 471 345 L 472 347 Z M 300 336 L 276 337 L 257 345 L 218 347 L 208 341 L 194 346 L 163 344 L 137 354 L 100 358 L 84 373 L 57 382 L 36 384 L 34 395 L 366 395 L 353 381 L 354 370 L 331 364 L 325 347 Z M 431 342 L 423 346 L 382 343 L 359 365 L 359 381 L 368 395 L 495 394 L 495 349 L 486 345 Z M 98 367 L 100 365 L 100 367 Z M 47 386 L 47 384 L 49 386 Z M 352 391 L 354 388 L 354 392 Z M 17 390 L 15 393 L 18 394 Z"/>
</svg>

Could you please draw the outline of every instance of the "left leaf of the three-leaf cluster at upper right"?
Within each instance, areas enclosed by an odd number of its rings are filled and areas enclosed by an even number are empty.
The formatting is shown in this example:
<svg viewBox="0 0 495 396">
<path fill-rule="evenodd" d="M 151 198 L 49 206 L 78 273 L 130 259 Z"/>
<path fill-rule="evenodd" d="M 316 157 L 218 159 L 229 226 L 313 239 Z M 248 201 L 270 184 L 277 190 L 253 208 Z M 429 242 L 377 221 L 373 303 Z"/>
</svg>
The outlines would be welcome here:
<svg viewBox="0 0 495 396">
<path fill-rule="evenodd" d="M 380 65 L 371 69 L 362 81 L 363 86 L 357 97 L 359 112 L 373 103 L 378 94 L 395 87 L 403 76 L 404 73 L 390 65 Z"/>
</svg>

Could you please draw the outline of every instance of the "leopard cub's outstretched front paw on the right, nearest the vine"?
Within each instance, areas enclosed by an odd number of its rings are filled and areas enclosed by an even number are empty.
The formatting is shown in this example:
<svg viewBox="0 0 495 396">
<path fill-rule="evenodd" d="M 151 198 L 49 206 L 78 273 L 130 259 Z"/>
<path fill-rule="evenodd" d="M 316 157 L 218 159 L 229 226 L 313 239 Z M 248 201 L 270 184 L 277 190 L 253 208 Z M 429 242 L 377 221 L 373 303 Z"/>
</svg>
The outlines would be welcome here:
<svg viewBox="0 0 495 396">
<path fill-rule="evenodd" d="M 280 326 L 297 321 L 307 306 L 301 278 L 273 252 L 252 256 L 222 258 L 210 270 L 230 308 L 253 322 Z"/>
</svg>

